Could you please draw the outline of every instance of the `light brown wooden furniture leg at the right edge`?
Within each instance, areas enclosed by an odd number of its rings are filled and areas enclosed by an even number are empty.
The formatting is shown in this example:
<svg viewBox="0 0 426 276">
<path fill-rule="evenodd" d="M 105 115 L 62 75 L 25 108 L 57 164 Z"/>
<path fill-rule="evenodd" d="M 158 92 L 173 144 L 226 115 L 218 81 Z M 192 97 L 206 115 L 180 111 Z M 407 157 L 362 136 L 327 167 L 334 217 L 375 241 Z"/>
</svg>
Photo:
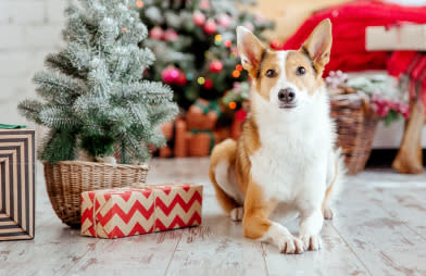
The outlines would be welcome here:
<svg viewBox="0 0 426 276">
<path fill-rule="evenodd" d="M 392 167 L 401 174 L 422 174 L 422 128 L 425 124 L 425 108 L 421 100 L 412 105 L 410 118 L 405 122 L 404 136 Z"/>
</svg>

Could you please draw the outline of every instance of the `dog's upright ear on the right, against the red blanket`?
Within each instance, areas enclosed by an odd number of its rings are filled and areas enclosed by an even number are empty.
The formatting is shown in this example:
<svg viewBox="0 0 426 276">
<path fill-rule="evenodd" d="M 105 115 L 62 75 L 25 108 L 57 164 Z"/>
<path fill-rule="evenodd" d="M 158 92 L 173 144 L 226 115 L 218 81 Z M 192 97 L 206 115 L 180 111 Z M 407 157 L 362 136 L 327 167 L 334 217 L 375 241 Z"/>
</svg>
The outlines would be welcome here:
<svg viewBox="0 0 426 276">
<path fill-rule="evenodd" d="M 331 22 L 326 18 L 315 27 L 302 46 L 301 50 L 310 57 L 320 76 L 330 60 L 331 42 Z"/>
</svg>

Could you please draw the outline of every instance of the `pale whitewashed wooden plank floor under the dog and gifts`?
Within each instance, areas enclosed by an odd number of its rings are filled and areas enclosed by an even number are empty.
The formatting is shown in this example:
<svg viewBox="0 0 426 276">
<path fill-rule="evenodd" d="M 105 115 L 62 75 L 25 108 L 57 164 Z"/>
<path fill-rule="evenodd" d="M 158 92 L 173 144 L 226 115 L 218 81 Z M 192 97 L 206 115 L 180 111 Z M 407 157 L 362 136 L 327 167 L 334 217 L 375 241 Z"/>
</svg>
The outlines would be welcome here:
<svg viewBox="0 0 426 276">
<path fill-rule="evenodd" d="M 349 177 L 324 248 L 284 255 L 222 214 L 208 159 L 153 160 L 149 183 L 204 185 L 203 225 L 115 240 L 82 237 L 53 213 L 37 164 L 36 238 L 0 242 L 0 275 L 426 275 L 426 174 Z M 289 224 L 297 233 L 297 221 Z"/>
</svg>

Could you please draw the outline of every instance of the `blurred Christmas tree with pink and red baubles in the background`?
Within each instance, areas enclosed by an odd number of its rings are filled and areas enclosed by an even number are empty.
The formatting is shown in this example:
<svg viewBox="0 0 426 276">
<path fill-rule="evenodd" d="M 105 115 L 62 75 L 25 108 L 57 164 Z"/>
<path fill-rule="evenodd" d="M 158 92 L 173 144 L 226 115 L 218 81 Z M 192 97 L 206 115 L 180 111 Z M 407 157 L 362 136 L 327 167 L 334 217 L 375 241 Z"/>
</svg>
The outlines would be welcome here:
<svg viewBox="0 0 426 276">
<path fill-rule="evenodd" d="M 246 26 L 255 35 L 272 23 L 247 11 L 248 0 L 137 0 L 149 28 L 143 45 L 158 60 L 148 78 L 171 85 L 185 110 L 199 97 L 220 100 L 227 109 L 241 106 L 240 83 L 248 75 L 239 64 L 235 29 Z M 236 93 L 223 98 L 228 93 Z"/>
</svg>

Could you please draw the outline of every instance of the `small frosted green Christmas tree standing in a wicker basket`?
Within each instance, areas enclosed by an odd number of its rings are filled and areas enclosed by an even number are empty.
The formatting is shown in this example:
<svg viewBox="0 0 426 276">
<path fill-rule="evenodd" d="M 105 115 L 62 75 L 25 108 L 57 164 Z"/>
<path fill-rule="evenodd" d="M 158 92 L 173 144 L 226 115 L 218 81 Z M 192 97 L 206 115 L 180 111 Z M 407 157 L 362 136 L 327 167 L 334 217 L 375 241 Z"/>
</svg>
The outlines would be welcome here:
<svg viewBox="0 0 426 276">
<path fill-rule="evenodd" d="M 50 128 L 41 160 L 75 160 L 80 149 L 96 160 L 120 149 L 121 163 L 130 163 L 165 142 L 158 126 L 177 106 L 168 87 L 142 79 L 154 55 L 139 48 L 148 30 L 134 4 L 80 0 L 66 10 L 66 47 L 49 54 L 48 70 L 34 76 L 45 101 L 18 105 L 28 120 Z"/>
</svg>

